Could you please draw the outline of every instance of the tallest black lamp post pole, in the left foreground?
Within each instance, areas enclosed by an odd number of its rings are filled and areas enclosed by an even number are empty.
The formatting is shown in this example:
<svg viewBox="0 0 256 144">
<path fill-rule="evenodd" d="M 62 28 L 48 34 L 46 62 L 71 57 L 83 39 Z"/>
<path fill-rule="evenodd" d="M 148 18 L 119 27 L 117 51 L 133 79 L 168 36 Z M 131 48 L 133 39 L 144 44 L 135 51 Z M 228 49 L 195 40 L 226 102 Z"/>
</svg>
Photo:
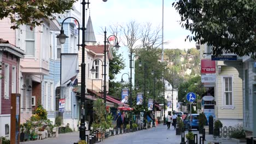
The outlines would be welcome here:
<svg viewBox="0 0 256 144">
<path fill-rule="evenodd" d="M 89 7 L 89 1 L 86 3 L 85 0 L 83 0 L 83 12 L 82 12 L 82 63 L 81 63 L 81 123 L 79 127 L 79 137 L 80 140 L 85 140 L 85 5 L 88 4 Z"/>
</svg>

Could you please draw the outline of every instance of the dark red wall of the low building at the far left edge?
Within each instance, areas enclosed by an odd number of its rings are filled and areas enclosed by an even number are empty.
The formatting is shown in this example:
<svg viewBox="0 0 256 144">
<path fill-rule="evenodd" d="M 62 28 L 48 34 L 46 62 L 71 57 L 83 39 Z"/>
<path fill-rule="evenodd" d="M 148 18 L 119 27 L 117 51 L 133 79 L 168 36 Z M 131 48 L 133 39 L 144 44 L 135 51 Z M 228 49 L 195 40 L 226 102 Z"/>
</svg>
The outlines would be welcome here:
<svg viewBox="0 0 256 144">
<path fill-rule="evenodd" d="M 2 55 L 2 76 L 3 76 L 3 80 L 2 80 L 2 93 L 1 93 L 1 114 L 5 115 L 5 114 L 10 114 L 10 101 L 11 101 L 11 75 L 12 75 L 12 67 L 15 66 L 16 67 L 16 92 L 18 92 L 18 58 L 14 55 L 11 55 L 8 52 L 3 52 Z M 9 64 L 9 99 L 4 99 L 4 63 L 5 64 Z"/>
</svg>

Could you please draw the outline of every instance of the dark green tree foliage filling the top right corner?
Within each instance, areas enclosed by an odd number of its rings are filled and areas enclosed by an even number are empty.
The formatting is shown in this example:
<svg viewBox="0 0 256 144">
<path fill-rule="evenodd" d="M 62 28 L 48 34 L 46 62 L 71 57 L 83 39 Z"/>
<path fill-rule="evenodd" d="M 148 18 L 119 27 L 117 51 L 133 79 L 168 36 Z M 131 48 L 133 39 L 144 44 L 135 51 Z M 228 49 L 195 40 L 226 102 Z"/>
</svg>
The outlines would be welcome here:
<svg viewBox="0 0 256 144">
<path fill-rule="evenodd" d="M 213 55 L 256 56 L 255 0 L 177 0 L 173 6 L 193 34 L 187 39 L 212 46 Z"/>
</svg>

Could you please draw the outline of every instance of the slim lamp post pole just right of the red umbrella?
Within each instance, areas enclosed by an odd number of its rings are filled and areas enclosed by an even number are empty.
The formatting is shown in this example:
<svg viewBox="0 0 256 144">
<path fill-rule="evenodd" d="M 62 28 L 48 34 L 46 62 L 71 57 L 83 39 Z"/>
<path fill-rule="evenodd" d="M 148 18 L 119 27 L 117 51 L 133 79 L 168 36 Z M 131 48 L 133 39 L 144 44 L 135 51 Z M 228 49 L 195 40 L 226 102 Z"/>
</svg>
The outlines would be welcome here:
<svg viewBox="0 0 256 144">
<path fill-rule="evenodd" d="M 132 107 L 132 51 L 130 53 L 130 107 Z M 130 111 L 130 130 L 132 130 L 132 111 Z"/>
</svg>

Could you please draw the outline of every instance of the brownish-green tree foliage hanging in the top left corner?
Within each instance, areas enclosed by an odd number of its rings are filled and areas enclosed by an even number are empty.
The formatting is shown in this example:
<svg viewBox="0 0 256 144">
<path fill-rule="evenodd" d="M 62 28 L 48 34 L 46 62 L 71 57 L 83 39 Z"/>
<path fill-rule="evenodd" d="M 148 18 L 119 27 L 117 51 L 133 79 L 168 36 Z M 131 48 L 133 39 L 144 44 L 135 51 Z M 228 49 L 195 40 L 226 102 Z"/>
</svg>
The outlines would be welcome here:
<svg viewBox="0 0 256 144">
<path fill-rule="evenodd" d="M 9 17 L 13 24 L 11 28 L 18 28 L 19 25 L 28 24 L 38 26 L 53 14 L 62 14 L 72 9 L 73 3 L 77 0 L 2 0 L 0 1 L 0 19 Z"/>
</svg>

